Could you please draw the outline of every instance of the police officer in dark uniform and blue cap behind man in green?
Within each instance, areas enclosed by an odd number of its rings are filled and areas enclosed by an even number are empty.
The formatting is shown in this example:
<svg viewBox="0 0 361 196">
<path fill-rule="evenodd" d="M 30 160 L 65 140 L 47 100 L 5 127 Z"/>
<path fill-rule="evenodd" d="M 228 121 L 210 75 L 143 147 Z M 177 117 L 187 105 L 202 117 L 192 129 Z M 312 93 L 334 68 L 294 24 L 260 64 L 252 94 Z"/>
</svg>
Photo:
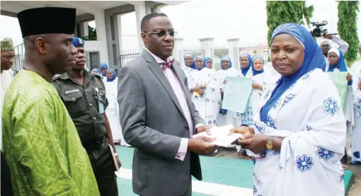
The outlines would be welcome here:
<svg viewBox="0 0 361 196">
<path fill-rule="evenodd" d="M 108 144 L 113 147 L 119 167 L 121 163 L 113 144 L 108 117 L 105 115 L 108 100 L 105 97 L 103 77 L 84 69 L 84 40 L 74 38 L 73 45 L 78 49 L 76 65 L 71 71 L 55 76 L 53 83 L 76 126 L 81 144 L 88 153 L 101 196 L 118 196 L 115 162 Z"/>
</svg>

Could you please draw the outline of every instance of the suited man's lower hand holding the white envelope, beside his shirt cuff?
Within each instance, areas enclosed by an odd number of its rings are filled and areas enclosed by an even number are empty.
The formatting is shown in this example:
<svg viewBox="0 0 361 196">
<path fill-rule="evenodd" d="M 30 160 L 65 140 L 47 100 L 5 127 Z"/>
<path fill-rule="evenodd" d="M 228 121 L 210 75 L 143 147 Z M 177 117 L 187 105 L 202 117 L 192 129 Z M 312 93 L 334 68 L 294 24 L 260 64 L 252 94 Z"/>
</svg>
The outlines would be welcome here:
<svg viewBox="0 0 361 196">
<path fill-rule="evenodd" d="M 210 143 L 213 142 L 215 138 L 212 137 L 195 137 L 188 140 L 188 150 L 193 151 L 197 154 L 211 154 L 214 149 L 217 148 L 216 145 Z"/>
</svg>

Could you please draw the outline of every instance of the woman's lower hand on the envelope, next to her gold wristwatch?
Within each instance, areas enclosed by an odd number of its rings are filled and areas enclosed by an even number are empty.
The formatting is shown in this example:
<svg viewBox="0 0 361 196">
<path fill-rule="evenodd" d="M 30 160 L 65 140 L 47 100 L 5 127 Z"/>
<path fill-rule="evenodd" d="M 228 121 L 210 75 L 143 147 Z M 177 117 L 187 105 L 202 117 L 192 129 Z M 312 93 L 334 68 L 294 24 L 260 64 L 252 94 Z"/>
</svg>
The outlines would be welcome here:
<svg viewBox="0 0 361 196">
<path fill-rule="evenodd" d="M 265 150 L 265 144 L 268 142 L 266 134 L 247 134 L 238 139 L 238 144 L 242 149 L 249 149 L 255 154 L 260 154 Z"/>
</svg>

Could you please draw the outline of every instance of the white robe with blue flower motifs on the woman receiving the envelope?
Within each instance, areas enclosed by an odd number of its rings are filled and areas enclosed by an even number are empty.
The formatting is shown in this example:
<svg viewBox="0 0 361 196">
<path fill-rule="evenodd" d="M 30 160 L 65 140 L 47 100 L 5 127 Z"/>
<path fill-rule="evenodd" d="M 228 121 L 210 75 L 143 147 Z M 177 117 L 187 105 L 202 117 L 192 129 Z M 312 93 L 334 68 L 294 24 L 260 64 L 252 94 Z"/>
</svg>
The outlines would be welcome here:
<svg viewBox="0 0 361 196">
<path fill-rule="evenodd" d="M 254 129 L 256 134 L 285 138 L 280 151 L 253 154 L 259 158 L 253 175 L 254 195 L 343 196 L 340 158 L 345 151 L 346 126 L 331 79 L 321 69 L 304 74 L 283 93 L 263 123 L 260 108 L 273 90 L 263 93 L 253 117 Z"/>
</svg>

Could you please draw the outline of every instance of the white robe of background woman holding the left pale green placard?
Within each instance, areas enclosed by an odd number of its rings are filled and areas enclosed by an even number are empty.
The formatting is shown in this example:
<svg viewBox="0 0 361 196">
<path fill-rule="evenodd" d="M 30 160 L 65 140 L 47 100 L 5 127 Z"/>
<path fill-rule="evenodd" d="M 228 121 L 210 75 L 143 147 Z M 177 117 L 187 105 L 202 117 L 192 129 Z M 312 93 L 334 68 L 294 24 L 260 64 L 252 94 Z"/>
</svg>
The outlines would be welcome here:
<svg viewBox="0 0 361 196">
<path fill-rule="evenodd" d="M 219 89 L 224 89 L 224 81 L 226 77 L 234 77 L 240 76 L 241 72 L 234 68 L 229 68 L 227 70 L 220 69 L 214 74 L 214 81 L 218 83 Z M 241 75 L 243 76 L 243 75 Z M 219 110 L 222 108 L 223 100 L 219 102 Z M 233 123 L 233 116 L 234 111 L 228 110 L 226 115 L 222 115 L 221 113 L 218 114 L 217 117 L 217 126 L 224 126 L 224 125 L 232 125 Z"/>
</svg>

